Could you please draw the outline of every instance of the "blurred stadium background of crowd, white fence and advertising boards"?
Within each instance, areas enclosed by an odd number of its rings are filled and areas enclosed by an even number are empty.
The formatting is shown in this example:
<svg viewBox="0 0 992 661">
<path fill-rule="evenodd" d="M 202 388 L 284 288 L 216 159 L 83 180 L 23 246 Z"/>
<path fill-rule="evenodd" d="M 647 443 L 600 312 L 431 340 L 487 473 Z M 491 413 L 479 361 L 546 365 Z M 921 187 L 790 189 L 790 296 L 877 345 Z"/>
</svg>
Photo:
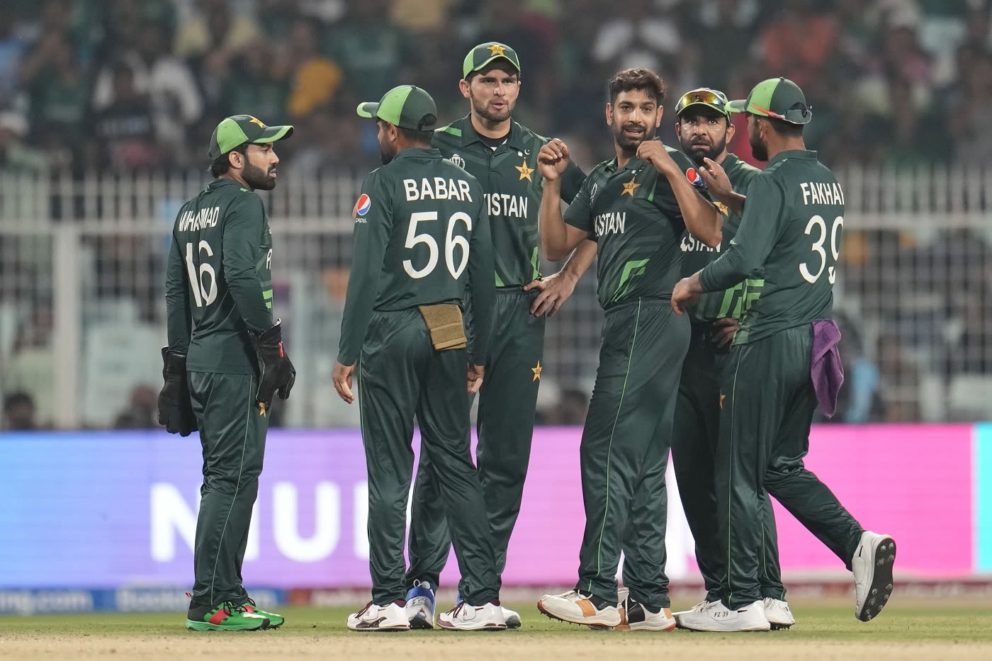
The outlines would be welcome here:
<svg viewBox="0 0 992 661">
<path fill-rule="evenodd" d="M 297 127 L 279 144 L 279 186 L 262 195 L 275 310 L 299 375 L 277 409 L 286 429 L 270 435 L 246 576 L 278 577 L 262 581 L 276 591 L 367 582 L 357 411 L 329 378 L 351 207 L 378 163 L 354 107 L 413 82 L 453 120 L 467 111 L 461 60 L 489 40 L 520 54 L 515 116 L 565 140 L 585 170 L 612 155 L 603 88 L 618 68 L 666 79 L 670 143 L 671 106 L 691 87 L 739 98 L 772 75 L 804 87 L 806 144 L 847 202 L 835 287 L 847 384 L 838 417 L 814 432 L 810 467 L 866 526 L 919 539 L 901 541 L 908 577 L 992 569 L 992 441 L 971 424 L 992 401 L 987 2 L 7 0 L 0 611 L 24 610 L 39 589 L 105 591 L 51 602 L 118 607 L 122 588 L 186 587 L 198 447 L 154 424 L 164 262 L 176 210 L 208 179 L 209 133 L 238 112 Z M 731 148 L 749 158 L 737 128 Z M 581 511 L 553 505 L 579 494 L 579 430 L 567 426 L 584 416 L 600 322 L 590 273 L 548 325 L 539 419 L 558 427 L 536 431 L 509 585 L 571 581 Z M 56 432 L 7 433 L 29 420 Z M 670 569 L 691 581 L 678 507 L 671 516 Z M 779 520 L 787 577 L 844 578 L 788 514 Z M 935 539 L 960 555 L 937 553 Z"/>
</svg>

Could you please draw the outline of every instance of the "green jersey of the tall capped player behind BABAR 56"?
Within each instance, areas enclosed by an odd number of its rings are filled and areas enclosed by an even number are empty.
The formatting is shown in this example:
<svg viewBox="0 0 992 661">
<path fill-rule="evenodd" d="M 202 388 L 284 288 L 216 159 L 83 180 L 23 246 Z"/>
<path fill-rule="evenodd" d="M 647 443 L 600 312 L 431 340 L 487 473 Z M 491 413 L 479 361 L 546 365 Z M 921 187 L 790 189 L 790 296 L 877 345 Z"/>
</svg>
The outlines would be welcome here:
<svg viewBox="0 0 992 661">
<path fill-rule="evenodd" d="M 433 146 L 482 184 L 495 252 L 497 287 L 523 287 L 541 277 L 538 217 L 544 180 L 538 152 L 548 142 L 517 122 L 496 149 L 475 132 L 470 116 L 434 131 Z M 574 163 L 562 175 L 561 198 L 571 201 L 585 174 Z"/>
</svg>

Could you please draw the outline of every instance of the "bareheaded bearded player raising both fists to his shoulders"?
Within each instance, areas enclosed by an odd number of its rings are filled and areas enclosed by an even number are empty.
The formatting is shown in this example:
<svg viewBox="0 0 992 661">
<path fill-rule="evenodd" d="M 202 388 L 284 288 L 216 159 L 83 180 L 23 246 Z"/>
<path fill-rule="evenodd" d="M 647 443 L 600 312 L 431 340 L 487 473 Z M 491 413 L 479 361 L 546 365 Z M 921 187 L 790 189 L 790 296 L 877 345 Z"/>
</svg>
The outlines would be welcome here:
<svg viewBox="0 0 992 661">
<path fill-rule="evenodd" d="M 606 313 L 599 367 L 579 449 L 585 531 L 578 581 L 538 608 L 567 622 L 622 623 L 616 574 L 621 550 L 629 589 L 624 626 L 671 630 L 665 576 L 665 470 L 689 323 L 670 290 L 682 266 L 688 227 L 710 247 L 720 214 L 685 178 L 692 162 L 655 139 L 665 86 L 657 73 L 629 68 L 609 81 L 606 122 L 615 158 L 597 165 L 563 217 L 559 202 L 568 148 L 557 138 L 538 163 L 545 179 L 541 242 L 560 258 L 587 238 L 598 247 L 598 298 Z"/>
</svg>

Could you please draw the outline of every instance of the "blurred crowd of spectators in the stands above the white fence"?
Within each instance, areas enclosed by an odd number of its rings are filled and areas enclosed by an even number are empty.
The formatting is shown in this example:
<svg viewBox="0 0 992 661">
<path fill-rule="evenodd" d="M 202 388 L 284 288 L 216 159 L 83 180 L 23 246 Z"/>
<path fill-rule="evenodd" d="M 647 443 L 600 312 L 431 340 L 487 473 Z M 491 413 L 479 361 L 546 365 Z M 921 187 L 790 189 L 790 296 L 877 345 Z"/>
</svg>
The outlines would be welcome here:
<svg viewBox="0 0 992 661">
<path fill-rule="evenodd" d="M 602 83 L 633 64 L 731 98 L 795 80 L 816 113 L 807 142 L 832 166 L 973 162 L 992 153 L 989 13 L 987 0 L 8 0 L 0 168 L 199 166 L 215 118 L 250 99 L 308 136 L 287 145 L 291 167 L 361 170 L 378 147 L 355 104 L 417 80 L 458 116 L 451 75 L 483 38 L 528 63 L 520 120 L 568 136 L 585 165 L 608 147 Z"/>
</svg>

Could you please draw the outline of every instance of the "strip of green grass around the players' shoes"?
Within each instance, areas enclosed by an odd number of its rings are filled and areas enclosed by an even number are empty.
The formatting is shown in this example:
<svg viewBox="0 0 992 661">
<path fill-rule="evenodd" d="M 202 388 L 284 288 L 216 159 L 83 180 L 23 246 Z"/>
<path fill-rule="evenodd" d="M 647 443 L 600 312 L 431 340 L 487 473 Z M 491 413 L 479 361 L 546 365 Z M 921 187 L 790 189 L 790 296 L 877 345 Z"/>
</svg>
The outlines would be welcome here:
<svg viewBox="0 0 992 661">
<path fill-rule="evenodd" d="M 540 636 L 602 639 L 604 636 L 632 635 L 611 631 L 593 631 L 587 627 L 565 624 L 549 619 L 538 612 L 533 602 L 508 603 L 519 610 L 523 627 L 507 633 L 488 634 L 494 636 Z M 816 599 L 791 602 L 797 624 L 788 631 L 773 631 L 758 634 L 705 634 L 688 631 L 675 631 L 678 638 L 693 638 L 701 641 L 710 637 L 730 638 L 769 638 L 789 641 L 837 641 L 837 642 L 913 642 L 945 641 L 992 643 L 992 604 L 981 599 L 959 601 L 949 598 L 920 599 L 900 602 L 898 597 L 886 607 L 883 613 L 871 622 L 859 622 L 854 618 L 853 605 L 847 600 Z M 356 604 L 357 606 L 357 604 Z M 306 636 L 376 636 L 376 634 L 356 634 L 344 625 L 348 613 L 355 607 L 286 607 L 278 609 L 286 615 L 286 624 L 278 631 L 260 631 L 248 634 L 207 633 L 210 636 L 250 635 L 279 636 L 292 638 Z M 33 616 L 10 615 L 0 617 L 0 637 L 14 635 L 44 639 L 46 636 L 91 636 L 117 635 L 183 637 L 204 635 L 184 628 L 184 613 L 88 613 L 88 614 L 46 614 Z M 409 634 L 425 639 L 430 637 L 449 638 L 458 636 L 447 631 L 412 631 Z M 478 635 L 478 634 L 476 634 Z M 486 634 L 482 634 L 486 635 Z M 645 635 L 645 634 L 633 634 Z M 990 654 L 992 656 L 992 654 Z"/>
</svg>

